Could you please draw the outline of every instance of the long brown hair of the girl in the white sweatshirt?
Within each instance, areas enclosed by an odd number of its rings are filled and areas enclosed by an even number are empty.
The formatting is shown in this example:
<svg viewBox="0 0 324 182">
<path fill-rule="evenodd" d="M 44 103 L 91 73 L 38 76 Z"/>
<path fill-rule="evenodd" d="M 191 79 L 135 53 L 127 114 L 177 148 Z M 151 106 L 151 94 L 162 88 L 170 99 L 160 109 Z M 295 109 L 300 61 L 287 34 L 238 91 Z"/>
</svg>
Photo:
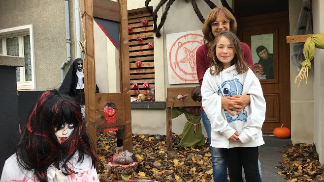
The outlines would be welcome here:
<svg viewBox="0 0 324 182">
<path fill-rule="evenodd" d="M 208 55 L 212 59 L 212 61 L 210 61 L 210 70 L 209 70 L 210 74 L 218 75 L 224 69 L 223 63 L 216 56 L 216 46 L 221 37 L 226 37 L 229 40 L 235 52 L 235 56 L 230 61 L 230 65 L 232 66 L 236 64 L 236 71 L 240 74 L 247 72 L 249 67 L 243 58 L 240 40 L 234 33 L 230 31 L 221 31 L 215 37 L 215 40 L 213 41 L 211 48 L 209 49 L 208 52 Z"/>
</svg>

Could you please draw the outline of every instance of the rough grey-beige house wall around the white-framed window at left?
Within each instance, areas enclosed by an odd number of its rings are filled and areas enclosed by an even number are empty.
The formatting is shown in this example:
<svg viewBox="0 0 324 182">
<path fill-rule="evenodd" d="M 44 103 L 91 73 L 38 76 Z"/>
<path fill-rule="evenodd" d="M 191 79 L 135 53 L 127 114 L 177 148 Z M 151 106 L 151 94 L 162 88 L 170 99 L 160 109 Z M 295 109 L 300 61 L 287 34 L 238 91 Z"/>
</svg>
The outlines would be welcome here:
<svg viewBox="0 0 324 182">
<path fill-rule="evenodd" d="M 35 90 L 58 88 L 61 85 L 61 65 L 66 61 L 64 5 L 64 0 L 1 0 L 0 29 L 33 25 Z M 73 1 L 70 0 L 69 5 L 72 12 L 70 31 L 73 60 Z"/>
</svg>

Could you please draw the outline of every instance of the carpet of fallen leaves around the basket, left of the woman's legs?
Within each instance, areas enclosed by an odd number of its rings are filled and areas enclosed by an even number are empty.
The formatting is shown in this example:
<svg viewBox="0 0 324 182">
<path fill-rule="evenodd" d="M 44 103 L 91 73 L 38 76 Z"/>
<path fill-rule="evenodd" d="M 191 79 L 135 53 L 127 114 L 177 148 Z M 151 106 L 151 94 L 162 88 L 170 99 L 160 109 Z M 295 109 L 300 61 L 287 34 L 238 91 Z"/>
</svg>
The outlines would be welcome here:
<svg viewBox="0 0 324 182">
<path fill-rule="evenodd" d="M 165 135 L 163 136 L 165 139 Z M 130 174 L 113 174 L 104 169 L 102 161 L 116 151 L 116 137 L 97 133 L 97 154 L 101 162 L 97 169 L 102 182 L 148 179 L 159 182 L 212 182 L 211 154 L 208 142 L 202 146 L 174 148 L 174 154 L 166 152 L 165 140 L 156 141 L 154 135 L 132 135 L 133 153 L 139 161 Z M 175 144 L 179 135 L 173 135 Z M 175 145 L 173 145 L 175 146 Z"/>
</svg>

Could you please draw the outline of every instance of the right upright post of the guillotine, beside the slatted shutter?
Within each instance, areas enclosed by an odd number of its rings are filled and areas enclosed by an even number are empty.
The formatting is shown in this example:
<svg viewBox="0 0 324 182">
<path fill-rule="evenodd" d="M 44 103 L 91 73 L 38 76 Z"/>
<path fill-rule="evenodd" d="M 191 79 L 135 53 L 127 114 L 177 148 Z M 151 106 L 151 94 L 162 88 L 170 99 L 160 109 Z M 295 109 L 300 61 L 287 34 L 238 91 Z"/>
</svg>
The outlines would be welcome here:
<svg viewBox="0 0 324 182">
<path fill-rule="evenodd" d="M 131 106 L 130 106 L 130 57 L 128 42 L 128 11 L 127 0 L 118 0 L 120 4 L 120 67 L 121 67 L 121 92 L 125 99 L 125 129 L 123 131 L 123 148 L 132 151 L 131 131 Z"/>
</svg>

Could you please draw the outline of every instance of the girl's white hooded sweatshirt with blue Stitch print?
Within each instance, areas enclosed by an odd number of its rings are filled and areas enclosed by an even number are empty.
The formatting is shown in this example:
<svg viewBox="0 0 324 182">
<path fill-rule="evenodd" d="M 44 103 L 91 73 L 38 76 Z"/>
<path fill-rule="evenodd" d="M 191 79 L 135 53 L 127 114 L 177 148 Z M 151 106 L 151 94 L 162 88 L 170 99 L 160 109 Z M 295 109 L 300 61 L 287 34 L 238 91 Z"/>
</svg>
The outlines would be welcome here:
<svg viewBox="0 0 324 182">
<path fill-rule="evenodd" d="M 210 68 L 209 68 L 210 69 Z M 207 69 L 202 85 L 202 107 L 211 124 L 211 146 L 216 148 L 257 147 L 264 144 L 262 124 L 265 119 L 265 100 L 259 79 L 253 71 L 243 74 L 235 65 L 224 69 L 218 75 L 211 75 Z M 221 97 L 250 94 L 250 104 L 239 115 L 232 116 L 222 108 Z M 235 131 L 239 142 L 230 142 Z"/>
</svg>

